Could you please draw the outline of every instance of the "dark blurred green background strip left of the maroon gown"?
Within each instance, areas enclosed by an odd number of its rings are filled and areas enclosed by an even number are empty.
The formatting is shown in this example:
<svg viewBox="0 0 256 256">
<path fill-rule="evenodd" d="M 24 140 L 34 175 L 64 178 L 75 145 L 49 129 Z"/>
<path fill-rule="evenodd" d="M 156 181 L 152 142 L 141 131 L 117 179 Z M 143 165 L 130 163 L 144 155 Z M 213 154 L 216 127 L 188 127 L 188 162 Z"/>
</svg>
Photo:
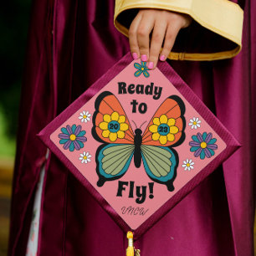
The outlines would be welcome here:
<svg viewBox="0 0 256 256">
<path fill-rule="evenodd" d="M 7 255 L 18 106 L 31 0 L 0 8 L 0 256 Z"/>
</svg>

